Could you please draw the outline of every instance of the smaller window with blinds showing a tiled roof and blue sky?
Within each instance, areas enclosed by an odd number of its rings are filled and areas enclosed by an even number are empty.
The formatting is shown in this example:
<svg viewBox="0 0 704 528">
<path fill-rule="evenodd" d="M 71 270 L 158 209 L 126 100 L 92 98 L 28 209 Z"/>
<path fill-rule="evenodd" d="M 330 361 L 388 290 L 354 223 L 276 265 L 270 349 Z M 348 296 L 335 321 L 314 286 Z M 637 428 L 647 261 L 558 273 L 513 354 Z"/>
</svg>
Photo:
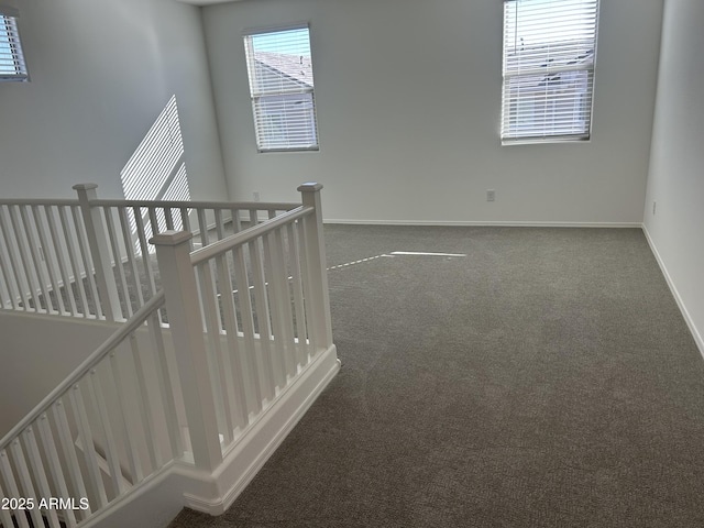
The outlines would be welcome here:
<svg viewBox="0 0 704 528">
<path fill-rule="evenodd" d="M 308 28 L 244 36 L 260 152 L 318 150 Z"/>
</svg>

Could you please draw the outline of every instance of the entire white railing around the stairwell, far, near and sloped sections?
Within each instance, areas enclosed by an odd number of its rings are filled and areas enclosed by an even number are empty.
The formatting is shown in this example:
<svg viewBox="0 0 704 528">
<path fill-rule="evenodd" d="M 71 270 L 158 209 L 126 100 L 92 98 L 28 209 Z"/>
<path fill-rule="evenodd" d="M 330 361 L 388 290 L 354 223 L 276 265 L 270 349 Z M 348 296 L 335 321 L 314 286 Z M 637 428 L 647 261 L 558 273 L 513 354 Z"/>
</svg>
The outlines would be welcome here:
<svg viewBox="0 0 704 528">
<path fill-rule="evenodd" d="M 186 430 L 196 469 L 219 468 L 331 345 L 319 188 L 304 186 L 296 208 L 98 200 L 91 186 L 80 204 L 0 204 L 2 305 L 130 316 L 0 440 L 0 495 L 89 498 L 88 509 L 0 512 L 0 522 L 76 527 L 180 458 Z M 193 254 L 190 233 L 168 231 L 191 219 L 204 244 Z"/>
</svg>

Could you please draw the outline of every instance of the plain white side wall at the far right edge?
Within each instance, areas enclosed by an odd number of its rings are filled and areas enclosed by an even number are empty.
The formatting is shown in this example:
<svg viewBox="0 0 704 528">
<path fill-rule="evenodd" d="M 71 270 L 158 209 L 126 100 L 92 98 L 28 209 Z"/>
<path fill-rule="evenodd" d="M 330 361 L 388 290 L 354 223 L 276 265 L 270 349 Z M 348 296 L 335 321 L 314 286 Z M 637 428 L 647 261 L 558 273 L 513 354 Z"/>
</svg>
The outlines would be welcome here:
<svg viewBox="0 0 704 528">
<path fill-rule="evenodd" d="M 668 0 L 645 209 L 653 249 L 704 353 L 704 3 Z M 656 213 L 652 204 L 657 202 Z"/>
</svg>

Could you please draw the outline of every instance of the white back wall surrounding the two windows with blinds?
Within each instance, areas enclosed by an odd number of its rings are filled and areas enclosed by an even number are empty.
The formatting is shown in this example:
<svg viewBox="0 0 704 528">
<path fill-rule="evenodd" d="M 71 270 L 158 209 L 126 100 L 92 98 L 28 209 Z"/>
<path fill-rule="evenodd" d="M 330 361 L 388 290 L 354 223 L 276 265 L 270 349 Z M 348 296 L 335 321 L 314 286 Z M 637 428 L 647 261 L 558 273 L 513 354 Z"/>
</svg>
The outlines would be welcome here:
<svg viewBox="0 0 704 528">
<path fill-rule="evenodd" d="M 662 0 L 602 0 L 593 139 L 501 146 L 501 1 L 205 8 L 230 195 L 324 184 L 327 219 L 642 221 Z M 243 29 L 308 21 L 320 152 L 257 154 Z M 487 204 L 486 189 L 496 190 Z"/>
</svg>

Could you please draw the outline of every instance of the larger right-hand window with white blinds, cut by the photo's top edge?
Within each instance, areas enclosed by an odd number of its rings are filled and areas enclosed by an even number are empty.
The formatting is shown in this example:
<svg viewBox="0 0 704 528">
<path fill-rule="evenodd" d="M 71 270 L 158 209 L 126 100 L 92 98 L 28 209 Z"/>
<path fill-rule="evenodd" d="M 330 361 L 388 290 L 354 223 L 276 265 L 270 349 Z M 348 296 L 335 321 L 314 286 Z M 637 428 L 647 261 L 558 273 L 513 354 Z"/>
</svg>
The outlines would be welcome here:
<svg viewBox="0 0 704 528">
<path fill-rule="evenodd" d="M 588 140 L 598 0 L 504 0 L 502 141 Z"/>
</svg>

